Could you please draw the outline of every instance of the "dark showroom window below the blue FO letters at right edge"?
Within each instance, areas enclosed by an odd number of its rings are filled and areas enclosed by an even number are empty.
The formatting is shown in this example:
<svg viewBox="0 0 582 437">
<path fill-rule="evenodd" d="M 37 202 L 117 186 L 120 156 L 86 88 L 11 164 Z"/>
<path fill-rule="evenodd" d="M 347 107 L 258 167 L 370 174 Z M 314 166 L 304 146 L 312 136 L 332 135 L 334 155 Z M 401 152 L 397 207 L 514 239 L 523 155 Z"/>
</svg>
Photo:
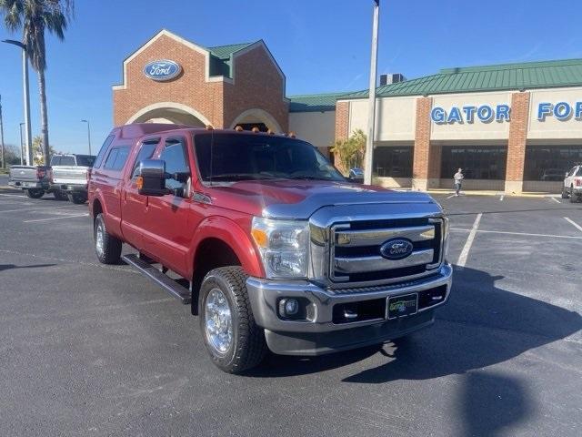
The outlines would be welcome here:
<svg viewBox="0 0 582 437">
<path fill-rule="evenodd" d="M 561 181 L 582 162 L 582 146 L 527 146 L 524 180 Z"/>
</svg>

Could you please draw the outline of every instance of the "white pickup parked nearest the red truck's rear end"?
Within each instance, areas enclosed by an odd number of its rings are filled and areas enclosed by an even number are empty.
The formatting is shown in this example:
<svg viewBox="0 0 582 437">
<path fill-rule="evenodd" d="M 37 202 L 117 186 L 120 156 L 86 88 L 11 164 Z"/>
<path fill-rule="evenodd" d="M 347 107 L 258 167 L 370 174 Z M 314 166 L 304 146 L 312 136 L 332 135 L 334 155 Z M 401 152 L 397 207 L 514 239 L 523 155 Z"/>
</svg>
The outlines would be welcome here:
<svg viewBox="0 0 582 437">
<path fill-rule="evenodd" d="M 85 203 L 87 180 L 94 162 L 92 155 L 55 155 L 51 158 L 50 185 L 55 197 L 66 196 L 73 203 Z"/>
</svg>

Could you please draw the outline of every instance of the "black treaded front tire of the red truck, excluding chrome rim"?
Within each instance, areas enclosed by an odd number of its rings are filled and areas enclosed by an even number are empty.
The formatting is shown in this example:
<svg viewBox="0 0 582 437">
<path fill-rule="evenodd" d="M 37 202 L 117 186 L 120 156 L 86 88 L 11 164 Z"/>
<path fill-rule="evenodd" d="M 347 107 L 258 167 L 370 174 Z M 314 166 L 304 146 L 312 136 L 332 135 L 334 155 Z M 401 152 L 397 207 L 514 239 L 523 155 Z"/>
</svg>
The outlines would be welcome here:
<svg viewBox="0 0 582 437">
<path fill-rule="evenodd" d="M 265 331 L 256 325 L 246 290 L 246 274 L 237 266 L 210 270 L 202 281 L 198 296 L 200 332 L 212 361 L 221 371 L 239 373 L 255 367 L 267 351 Z M 233 340 L 224 355 L 206 337 L 206 298 L 218 288 L 225 295 L 232 315 Z"/>
</svg>

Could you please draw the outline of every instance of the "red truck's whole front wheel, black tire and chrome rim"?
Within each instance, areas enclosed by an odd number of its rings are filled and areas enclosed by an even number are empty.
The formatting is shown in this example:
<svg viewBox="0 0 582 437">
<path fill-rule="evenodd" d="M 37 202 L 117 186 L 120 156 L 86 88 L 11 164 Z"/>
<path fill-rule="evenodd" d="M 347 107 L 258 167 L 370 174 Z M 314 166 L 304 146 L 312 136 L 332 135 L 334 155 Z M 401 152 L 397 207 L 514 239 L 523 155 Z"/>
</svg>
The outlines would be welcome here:
<svg viewBox="0 0 582 437">
<path fill-rule="evenodd" d="M 265 332 L 253 317 L 243 269 L 210 270 L 202 281 L 198 303 L 206 350 L 220 370 L 239 373 L 263 361 Z"/>
</svg>

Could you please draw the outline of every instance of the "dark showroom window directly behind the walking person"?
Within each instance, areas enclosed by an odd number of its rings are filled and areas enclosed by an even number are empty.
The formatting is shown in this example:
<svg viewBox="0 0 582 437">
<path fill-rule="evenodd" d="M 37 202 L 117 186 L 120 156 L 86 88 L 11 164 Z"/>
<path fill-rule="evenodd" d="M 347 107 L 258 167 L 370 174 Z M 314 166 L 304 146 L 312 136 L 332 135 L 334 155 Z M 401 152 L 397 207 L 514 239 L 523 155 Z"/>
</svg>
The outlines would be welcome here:
<svg viewBox="0 0 582 437">
<path fill-rule="evenodd" d="M 467 179 L 505 180 L 506 162 L 505 146 L 443 146 L 440 177 L 453 178 L 463 168 Z"/>
</svg>

